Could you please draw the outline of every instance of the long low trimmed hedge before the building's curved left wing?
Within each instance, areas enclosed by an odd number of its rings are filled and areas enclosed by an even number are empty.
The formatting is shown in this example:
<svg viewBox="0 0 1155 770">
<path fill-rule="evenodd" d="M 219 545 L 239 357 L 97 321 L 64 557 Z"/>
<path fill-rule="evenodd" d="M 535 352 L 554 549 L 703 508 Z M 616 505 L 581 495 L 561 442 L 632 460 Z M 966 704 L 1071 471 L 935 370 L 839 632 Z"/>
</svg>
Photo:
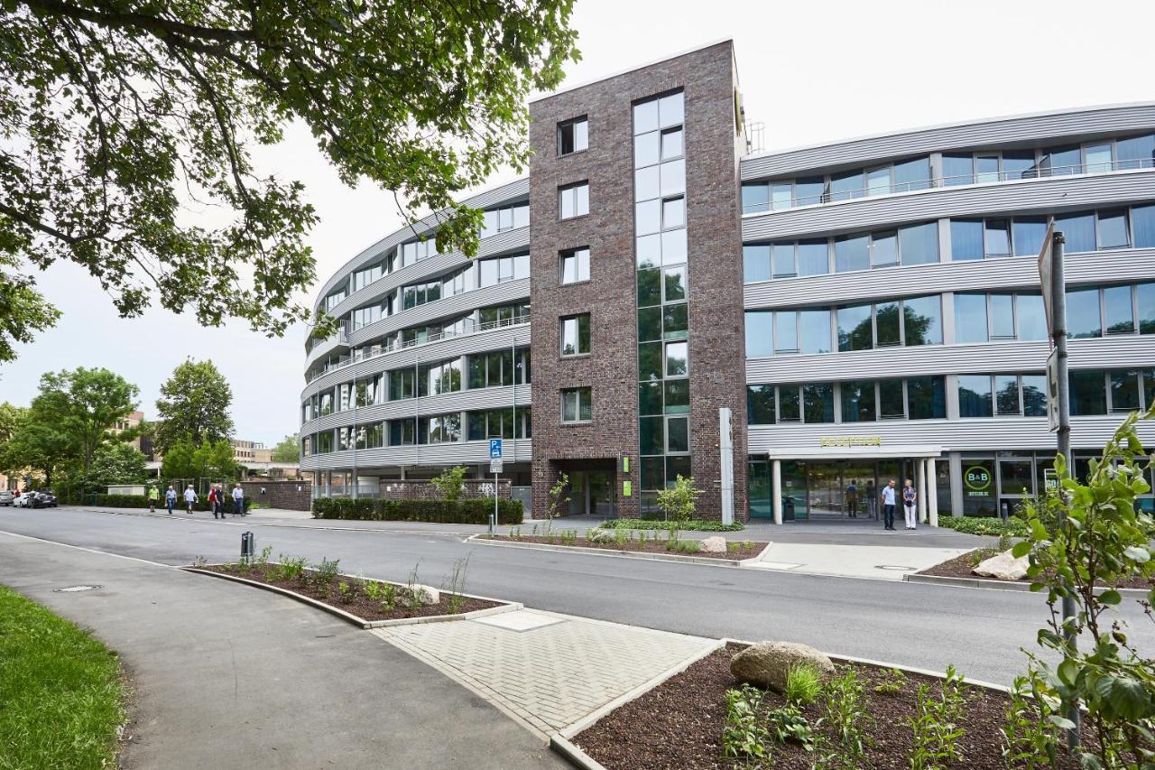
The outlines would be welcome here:
<svg viewBox="0 0 1155 770">
<path fill-rule="evenodd" d="M 313 501 L 314 519 L 357 521 L 435 521 L 439 524 L 489 524 L 492 497 L 447 499 L 350 499 L 322 497 Z M 520 499 L 498 499 L 498 524 L 521 524 Z"/>
</svg>

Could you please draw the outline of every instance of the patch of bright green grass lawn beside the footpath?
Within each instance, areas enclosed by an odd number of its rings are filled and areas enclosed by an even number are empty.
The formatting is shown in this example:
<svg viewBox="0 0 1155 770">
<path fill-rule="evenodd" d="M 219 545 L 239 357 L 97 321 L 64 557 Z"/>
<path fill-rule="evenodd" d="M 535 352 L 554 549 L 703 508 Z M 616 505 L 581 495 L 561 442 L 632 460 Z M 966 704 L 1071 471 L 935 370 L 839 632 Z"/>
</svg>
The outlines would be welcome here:
<svg viewBox="0 0 1155 770">
<path fill-rule="evenodd" d="M 0 770 L 114 768 L 120 661 L 0 585 Z"/>
</svg>

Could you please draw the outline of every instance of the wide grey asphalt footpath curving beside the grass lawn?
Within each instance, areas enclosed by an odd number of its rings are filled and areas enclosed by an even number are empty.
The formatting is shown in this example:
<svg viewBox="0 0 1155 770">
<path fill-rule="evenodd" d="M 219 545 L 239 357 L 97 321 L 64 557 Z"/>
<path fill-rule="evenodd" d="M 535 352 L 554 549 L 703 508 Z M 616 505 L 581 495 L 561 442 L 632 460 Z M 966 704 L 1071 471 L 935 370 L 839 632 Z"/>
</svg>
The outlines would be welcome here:
<svg viewBox="0 0 1155 770">
<path fill-rule="evenodd" d="M 468 689 L 288 598 L 0 533 L 0 583 L 117 650 L 122 768 L 565 768 Z M 102 587 L 57 593 L 61 587 Z"/>
</svg>

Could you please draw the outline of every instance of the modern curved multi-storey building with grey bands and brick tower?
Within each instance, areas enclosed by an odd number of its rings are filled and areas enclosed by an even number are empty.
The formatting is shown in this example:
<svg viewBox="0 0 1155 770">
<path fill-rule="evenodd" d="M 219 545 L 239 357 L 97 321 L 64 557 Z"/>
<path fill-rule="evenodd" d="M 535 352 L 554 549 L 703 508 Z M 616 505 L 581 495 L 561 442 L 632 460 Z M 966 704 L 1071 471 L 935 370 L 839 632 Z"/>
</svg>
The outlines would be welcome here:
<svg viewBox="0 0 1155 770">
<path fill-rule="evenodd" d="M 468 201 L 478 259 L 407 228 L 325 284 L 315 494 L 483 474 L 500 436 L 538 511 L 565 473 L 574 513 L 648 512 L 680 474 L 715 518 L 864 514 L 891 477 L 931 520 L 996 514 L 1053 458 L 1051 221 L 1076 466 L 1155 399 L 1155 104 L 751 151 L 724 42 L 530 113 L 528 179 Z"/>
</svg>

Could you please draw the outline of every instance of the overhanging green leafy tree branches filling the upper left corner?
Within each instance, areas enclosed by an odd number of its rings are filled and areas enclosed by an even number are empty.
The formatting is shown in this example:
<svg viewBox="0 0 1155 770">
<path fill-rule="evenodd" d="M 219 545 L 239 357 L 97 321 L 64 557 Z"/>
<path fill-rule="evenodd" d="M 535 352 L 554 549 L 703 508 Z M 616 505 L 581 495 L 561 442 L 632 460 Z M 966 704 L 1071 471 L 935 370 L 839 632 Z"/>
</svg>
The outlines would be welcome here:
<svg viewBox="0 0 1155 770">
<path fill-rule="evenodd" d="M 576 58 L 572 7 L 0 5 L 0 287 L 24 287 L 21 303 L 0 302 L 0 343 L 54 318 L 13 259 L 83 266 L 125 317 L 157 302 L 270 334 L 330 326 L 296 299 L 315 277 L 316 213 L 299 182 L 252 160 L 292 121 L 344 183 L 394 191 L 407 221 L 438 212 L 438 247 L 474 254 L 480 213 L 454 197 L 524 168 L 526 97 Z"/>
</svg>

